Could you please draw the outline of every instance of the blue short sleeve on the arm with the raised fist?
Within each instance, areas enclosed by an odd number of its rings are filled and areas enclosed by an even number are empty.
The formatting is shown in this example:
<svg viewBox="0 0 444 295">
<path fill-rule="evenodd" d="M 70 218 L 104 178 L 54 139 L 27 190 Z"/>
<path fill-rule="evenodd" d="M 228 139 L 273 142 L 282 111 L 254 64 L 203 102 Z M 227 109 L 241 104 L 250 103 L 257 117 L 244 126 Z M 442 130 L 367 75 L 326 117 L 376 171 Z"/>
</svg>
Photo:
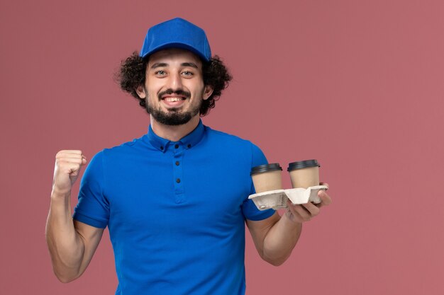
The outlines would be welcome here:
<svg viewBox="0 0 444 295">
<path fill-rule="evenodd" d="M 100 229 L 109 220 L 109 202 L 104 195 L 104 153 L 97 153 L 84 172 L 79 190 L 79 202 L 73 218 Z"/>
</svg>

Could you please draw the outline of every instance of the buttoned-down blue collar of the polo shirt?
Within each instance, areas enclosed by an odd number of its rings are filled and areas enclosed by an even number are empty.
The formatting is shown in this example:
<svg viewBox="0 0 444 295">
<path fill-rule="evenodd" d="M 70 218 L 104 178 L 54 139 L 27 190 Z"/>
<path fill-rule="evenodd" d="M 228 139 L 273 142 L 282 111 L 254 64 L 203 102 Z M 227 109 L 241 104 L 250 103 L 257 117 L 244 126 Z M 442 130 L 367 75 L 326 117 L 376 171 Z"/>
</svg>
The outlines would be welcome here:
<svg viewBox="0 0 444 295">
<path fill-rule="evenodd" d="M 199 120 L 199 124 L 196 128 L 186 136 L 182 137 L 179 141 L 170 141 L 168 139 L 162 138 L 152 131 L 151 125 L 148 127 L 148 141 L 150 144 L 162 153 L 167 151 L 169 146 L 174 146 L 175 144 L 183 144 L 184 149 L 192 149 L 193 146 L 201 141 L 202 137 L 204 137 L 205 127 L 202 123 L 202 120 Z"/>
</svg>

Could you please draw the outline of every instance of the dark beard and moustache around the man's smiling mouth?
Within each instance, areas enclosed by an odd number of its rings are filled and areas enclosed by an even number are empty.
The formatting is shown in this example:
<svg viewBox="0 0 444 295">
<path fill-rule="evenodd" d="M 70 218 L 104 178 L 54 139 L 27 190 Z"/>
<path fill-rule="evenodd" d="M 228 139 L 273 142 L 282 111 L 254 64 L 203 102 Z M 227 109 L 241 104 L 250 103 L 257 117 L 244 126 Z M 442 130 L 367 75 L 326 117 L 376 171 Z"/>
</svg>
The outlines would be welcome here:
<svg viewBox="0 0 444 295">
<path fill-rule="evenodd" d="M 148 93 L 148 92 L 146 92 Z M 172 89 L 168 89 L 166 91 L 162 91 L 157 95 L 157 99 L 160 101 L 162 100 L 162 96 L 165 94 L 177 94 L 185 96 L 186 99 L 189 99 L 191 97 L 191 93 L 187 91 L 177 90 L 172 91 Z M 192 117 L 199 114 L 199 111 L 201 109 L 202 100 L 199 100 L 199 103 L 197 105 L 192 105 L 192 108 L 190 110 L 187 110 L 186 112 L 181 112 L 180 108 L 170 108 L 167 111 L 162 110 L 162 108 L 159 106 L 159 108 L 155 108 L 152 104 L 150 104 L 150 99 L 146 98 L 146 111 L 148 114 L 152 115 L 154 119 L 157 122 L 160 122 L 163 125 L 184 125 L 189 122 L 189 120 L 192 120 Z"/>
</svg>

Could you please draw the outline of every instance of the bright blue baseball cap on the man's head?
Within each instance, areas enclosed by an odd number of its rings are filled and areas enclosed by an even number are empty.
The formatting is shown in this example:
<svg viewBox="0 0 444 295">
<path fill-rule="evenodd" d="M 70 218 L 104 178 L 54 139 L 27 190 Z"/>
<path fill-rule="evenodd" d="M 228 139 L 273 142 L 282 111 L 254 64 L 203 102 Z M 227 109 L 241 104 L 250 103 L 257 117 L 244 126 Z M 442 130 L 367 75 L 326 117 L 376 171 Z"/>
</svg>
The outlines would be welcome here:
<svg viewBox="0 0 444 295">
<path fill-rule="evenodd" d="M 140 57 L 165 48 L 182 48 L 197 54 L 204 61 L 211 59 L 211 49 L 205 31 L 183 18 L 173 18 L 148 30 Z"/>
</svg>

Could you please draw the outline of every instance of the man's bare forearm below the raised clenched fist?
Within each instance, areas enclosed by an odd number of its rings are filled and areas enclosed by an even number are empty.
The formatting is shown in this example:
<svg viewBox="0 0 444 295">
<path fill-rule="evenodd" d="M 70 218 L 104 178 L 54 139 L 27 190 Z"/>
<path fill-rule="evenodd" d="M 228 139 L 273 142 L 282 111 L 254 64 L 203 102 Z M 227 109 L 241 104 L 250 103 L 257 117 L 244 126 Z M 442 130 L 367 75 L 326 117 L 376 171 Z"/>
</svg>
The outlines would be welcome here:
<svg viewBox="0 0 444 295">
<path fill-rule="evenodd" d="M 79 277 L 82 273 L 84 243 L 72 221 L 70 193 L 52 192 L 46 241 L 57 278 L 61 282 L 70 282 Z"/>
</svg>

